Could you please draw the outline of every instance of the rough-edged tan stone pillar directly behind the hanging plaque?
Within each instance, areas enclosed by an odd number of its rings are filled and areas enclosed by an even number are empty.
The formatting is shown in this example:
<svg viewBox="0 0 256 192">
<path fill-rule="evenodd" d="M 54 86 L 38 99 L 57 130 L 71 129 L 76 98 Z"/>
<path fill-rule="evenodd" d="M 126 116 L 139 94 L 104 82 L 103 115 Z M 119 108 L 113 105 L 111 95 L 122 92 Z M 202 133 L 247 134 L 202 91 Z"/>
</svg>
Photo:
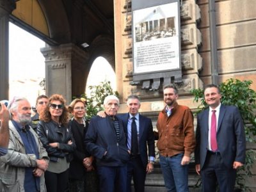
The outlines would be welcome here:
<svg viewBox="0 0 256 192">
<path fill-rule="evenodd" d="M 200 8 L 195 1 L 183 1 L 180 6 L 181 44 L 182 44 L 182 84 L 179 84 L 180 95 L 186 95 L 191 88 L 202 88 L 198 72 L 202 69 L 202 58 L 198 47 L 202 45 L 202 35 L 198 29 Z M 132 84 L 132 13 L 131 0 L 115 1 L 115 50 L 118 92 L 122 93 L 123 101 L 131 93 L 140 95 L 141 99 L 159 100 L 160 91 L 150 91 L 152 84 Z M 122 63 L 122 66 L 121 66 Z M 120 73 L 119 73 L 120 72 Z"/>
</svg>

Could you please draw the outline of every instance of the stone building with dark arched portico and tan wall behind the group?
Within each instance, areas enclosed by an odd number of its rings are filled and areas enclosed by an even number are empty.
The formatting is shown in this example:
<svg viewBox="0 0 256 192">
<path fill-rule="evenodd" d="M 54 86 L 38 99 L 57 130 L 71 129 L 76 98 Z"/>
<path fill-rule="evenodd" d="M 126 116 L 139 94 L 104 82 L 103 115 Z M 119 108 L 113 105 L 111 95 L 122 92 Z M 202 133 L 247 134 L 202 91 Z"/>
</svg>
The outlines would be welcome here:
<svg viewBox="0 0 256 192">
<path fill-rule="evenodd" d="M 182 79 L 179 104 L 196 109 L 190 90 L 230 78 L 252 80 L 256 90 L 256 1 L 180 1 Z M 42 38 L 46 94 L 61 93 L 68 102 L 84 93 L 93 60 L 103 56 L 116 74 L 125 112 L 131 93 L 141 97 L 141 113 L 156 123 L 163 108 L 163 79 L 134 83 L 131 0 L 0 0 L 0 99 L 8 95 L 8 22 Z M 84 48 L 86 42 L 90 46 Z M 83 81 L 81 81 L 83 79 Z M 169 78 L 164 82 L 173 83 Z M 63 86 L 60 86 L 63 85 Z M 152 89 L 158 84 L 158 89 Z M 196 124 L 196 122 L 195 122 Z M 250 145 L 255 148 L 255 145 Z M 255 169 L 252 170 L 255 175 Z M 256 177 L 246 185 L 255 190 Z M 154 180 L 154 179 L 153 179 Z M 153 182 L 153 181 L 152 181 Z"/>
</svg>

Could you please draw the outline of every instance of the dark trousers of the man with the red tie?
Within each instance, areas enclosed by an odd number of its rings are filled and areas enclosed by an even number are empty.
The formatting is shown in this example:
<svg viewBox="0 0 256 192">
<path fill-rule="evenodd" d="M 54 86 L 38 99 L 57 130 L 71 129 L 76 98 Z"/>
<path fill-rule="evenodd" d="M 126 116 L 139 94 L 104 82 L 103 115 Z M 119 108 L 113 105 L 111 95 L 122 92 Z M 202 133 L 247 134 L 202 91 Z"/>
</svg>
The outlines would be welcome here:
<svg viewBox="0 0 256 192">
<path fill-rule="evenodd" d="M 236 170 L 227 168 L 223 164 L 220 153 L 207 152 L 204 167 L 202 168 L 202 191 L 215 192 L 217 182 L 220 192 L 233 192 L 236 182 Z"/>
</svg>

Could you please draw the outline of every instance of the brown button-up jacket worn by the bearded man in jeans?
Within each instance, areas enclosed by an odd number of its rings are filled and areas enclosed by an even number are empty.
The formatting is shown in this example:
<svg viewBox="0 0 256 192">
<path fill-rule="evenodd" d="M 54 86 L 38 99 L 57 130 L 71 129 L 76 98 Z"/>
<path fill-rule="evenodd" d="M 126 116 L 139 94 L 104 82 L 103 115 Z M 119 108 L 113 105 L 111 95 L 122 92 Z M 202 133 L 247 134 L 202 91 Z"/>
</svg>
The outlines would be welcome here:
<svg viewBox="0 0 256 192">
<path fill-rule="evenodd" d="M 161 156 L 172 157 L 184 152 L 184 156 L 189 157 L 194 152 L 193 114 L 187 106 L 180 106 L 176 102 L 169 117 L 164 108 L 157 119 L 157 130 L 157 148 Z"/>
</svg>

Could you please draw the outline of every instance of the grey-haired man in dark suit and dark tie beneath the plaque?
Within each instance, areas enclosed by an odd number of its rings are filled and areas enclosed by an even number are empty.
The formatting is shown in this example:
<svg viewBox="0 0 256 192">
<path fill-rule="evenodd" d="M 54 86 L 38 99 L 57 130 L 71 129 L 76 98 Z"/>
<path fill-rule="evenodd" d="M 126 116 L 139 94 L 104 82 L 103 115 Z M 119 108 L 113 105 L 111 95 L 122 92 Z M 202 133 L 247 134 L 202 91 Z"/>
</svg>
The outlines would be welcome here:
<svg viewBox="0 0 256 192">
<path fill-rule="evenodd" d="M 127 191 L 131 191 L 131 179 L 134 182 L 135 191 L 144 191 L 146 174 L 152 172 L 155 157 L 155 140 L 152 122 L 150 118 L 139 114 L 140 99 L 137 95 L 130 95 L 127 98 L 129 113 L 118 115 L 124 125 L 127 134 L 127 147 L 131 150 L 131 157 L 128 161 Z M 132 121 L 136 123 L 138 147 L 132 147 Z M 149 159 L 148 159 L 149 157 Z"/>
</svg>

